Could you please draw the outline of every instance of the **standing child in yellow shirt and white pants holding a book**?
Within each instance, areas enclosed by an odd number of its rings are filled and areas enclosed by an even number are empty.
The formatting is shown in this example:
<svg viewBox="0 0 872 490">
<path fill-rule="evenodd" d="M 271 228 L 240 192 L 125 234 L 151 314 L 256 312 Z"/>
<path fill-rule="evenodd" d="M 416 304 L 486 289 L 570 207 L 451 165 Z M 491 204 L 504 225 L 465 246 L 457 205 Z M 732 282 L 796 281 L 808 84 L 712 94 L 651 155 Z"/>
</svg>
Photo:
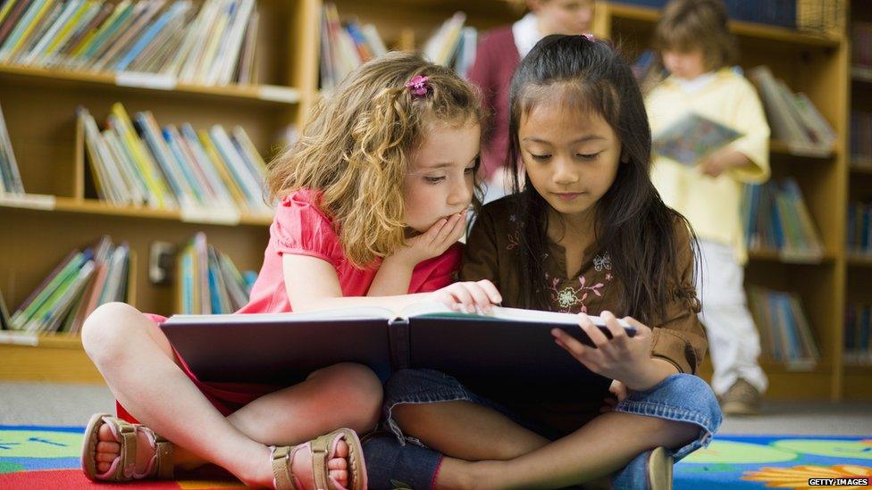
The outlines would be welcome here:
<svg viewBox="0 0 872 490">
<path fill-rule="evenodd" d="M 700 237 L 697 291 L 700 320 L 709 335 L 712 388 L 727 414 L 759 411 L 767 378 L 760 369 L 759 334 L 742 289 L 747 253 L 742 237 L 743 183 L 769 177 L 769 127 L 750 82 L 729 68 L 736 51 L 720 0 L 674 0 L 654 35 L 671 75 L 646 97 L 655 136 L 690 112 L 734 128 L 743 137 L 685 166 L 664 156 L 652 180 L 667 205 L 681 212 Z"/>
</svg>

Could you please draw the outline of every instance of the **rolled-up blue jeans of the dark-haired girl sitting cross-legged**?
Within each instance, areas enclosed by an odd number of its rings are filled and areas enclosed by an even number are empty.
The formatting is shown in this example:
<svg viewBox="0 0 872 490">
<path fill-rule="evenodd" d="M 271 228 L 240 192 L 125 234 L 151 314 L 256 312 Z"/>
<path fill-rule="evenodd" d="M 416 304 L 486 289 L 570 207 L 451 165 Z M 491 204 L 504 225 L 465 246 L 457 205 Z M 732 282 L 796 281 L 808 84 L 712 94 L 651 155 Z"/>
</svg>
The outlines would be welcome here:
<svg viewBox="0 0 872 490">
<path fill-rule="evenodd" d="M 430 488 L 435 481 L 441 454 L 407 437 L 392 417 L 394 407 L 402 403 L 439 403 L 465 401 L 477 403 L 506 415 L 524 428 L 549 439 L 557 439 L 580 428 L 556 428 L 542 420 L 522 415 L 474 394 L 462 383 L 436 370 L 400 370 L 384 386 L 384 425 L 382 432 L 364 444 L 370 486 L 373 489 L 393 488 L 398 483 L 415 489 Z M 700 427 L 699 436 L 691 443 L 671 451 L 675 461 L 705 447 L 721 424 L 721 411 L 715 394 L 702 379 L 688 374 L 675 374 L 646 391 L 631 392 L 615 408 L 636 415 L 690 422 Z M 579 413 L 582 420 L 585 414 Z M 412 444 L 407 444 L 411 442 Z M 392 480 L 392 481 L 391 481 Z M 582 483 L 582 482 L 579 482 Z"/>
</svg>

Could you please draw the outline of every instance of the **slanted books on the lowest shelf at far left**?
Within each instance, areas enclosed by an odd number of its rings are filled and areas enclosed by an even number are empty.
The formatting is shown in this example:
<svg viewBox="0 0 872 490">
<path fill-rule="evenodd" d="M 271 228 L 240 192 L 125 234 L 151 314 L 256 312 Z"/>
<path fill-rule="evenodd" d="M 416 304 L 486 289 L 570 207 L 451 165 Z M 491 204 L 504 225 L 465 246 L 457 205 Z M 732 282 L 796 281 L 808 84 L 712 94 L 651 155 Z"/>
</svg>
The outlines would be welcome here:
<svg viewBox="0 0 872 490">
<path fill-rule="evenodd" d="M 27 332 L 79 332 L 97 306 L 128 301 L 131 255 L 127 244 L 102 237 L 73 250 L 8 319 L 6 328 Z"/>
</svg>

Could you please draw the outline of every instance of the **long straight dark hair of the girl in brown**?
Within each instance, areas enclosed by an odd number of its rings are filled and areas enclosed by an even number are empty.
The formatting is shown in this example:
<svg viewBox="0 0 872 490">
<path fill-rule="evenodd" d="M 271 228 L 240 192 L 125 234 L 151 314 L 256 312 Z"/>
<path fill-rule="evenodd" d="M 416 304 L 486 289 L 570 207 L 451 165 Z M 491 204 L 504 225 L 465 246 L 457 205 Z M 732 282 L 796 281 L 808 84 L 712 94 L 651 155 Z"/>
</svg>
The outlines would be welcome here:
<svg viewBox="0 0 872 490">
<path fill-rule="evenodd" d="M 522 162 L 518 130 L 521 120 L 545 97 L 563 91 L 563 104 L 598 113 L 621 142 L 615 182 L 597 203 L 597 242 L 611 256 L 612 270 L 623 284 L 625 313 L 651 322 L 683 281 L 678 270 L 676 225 L 690 224 L 660 199 L 650 180 L 651 134 L 639 87 L 630 67 L 603 41 L 583 36 L 545 37 L 521 62 L 509 98 L 509 164 L 513 167 L 517 216 L 521 233 L 521 301 L 527 308 L 549 302 L 543 254 L 547 252 L 549 204 L 525 178 L 517 178 Z M 681 234 L 685 235 L 685 234 Z"/>
</svg>

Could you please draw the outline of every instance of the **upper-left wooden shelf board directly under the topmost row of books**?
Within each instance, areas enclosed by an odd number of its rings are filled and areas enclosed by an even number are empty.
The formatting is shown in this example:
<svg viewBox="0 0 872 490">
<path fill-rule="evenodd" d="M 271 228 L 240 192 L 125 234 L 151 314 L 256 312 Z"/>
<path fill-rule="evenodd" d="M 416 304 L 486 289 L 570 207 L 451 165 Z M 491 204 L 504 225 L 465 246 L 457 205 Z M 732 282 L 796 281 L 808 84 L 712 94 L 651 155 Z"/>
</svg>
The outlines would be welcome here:
<svg viewBox="0 0 872 490">
<path fill-rule="evenodd" d="M 300 92 L 292 87 L 275 85 L 229 85 L 208 87 L 176 83 L 173 79 L 140 73 L 93 73 L 0 64 L 0 78 L 21 83 L 45 83 L 76 87 L 112 87 L 113 90 L 148 91 L 180 96 L 231 99 L 253 104 L 298 104 Z M 16 80 L 18 79 L 18 80 Z"/>
</svg>

